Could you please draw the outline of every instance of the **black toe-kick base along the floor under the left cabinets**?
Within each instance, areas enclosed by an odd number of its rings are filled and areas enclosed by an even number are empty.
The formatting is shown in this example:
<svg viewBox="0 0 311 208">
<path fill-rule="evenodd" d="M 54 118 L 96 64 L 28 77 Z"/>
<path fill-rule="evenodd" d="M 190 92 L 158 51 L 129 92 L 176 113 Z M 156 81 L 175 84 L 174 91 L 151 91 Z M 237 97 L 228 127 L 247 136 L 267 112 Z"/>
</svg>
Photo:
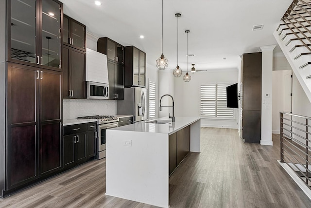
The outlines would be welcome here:
<svg viewBox="0 0 311 208">
<path fill-rule="evenodd" d="M 92 160 L 95 160 L 95 157 L 89 158 L 86 162 L 89 162 L 89 161 L 92 161 Z M 55 171 L 55 172 L 53 172 L 53 173 L 51 173 L 49 175 L 42 176 L 40 178 L 37 178 L 37 179 L 35 179 L 35 180 L 33 180 L 33 181 L 29 182 L 29 183 L 23 184 L 22 186 L 16 187 L 14 189 L 0 190 L 0 198 L 5 198 L 5 197 L 8 197 L 8 196 L 10 196 L 12 194 L 16 194 L 16 193 L 18 193 L 20 191 L 23 191 L 24 189 L 28 189 L 28 188 L 30 188 L 32 186 L 35 186 L 35 185 L 37 185 L 37 184 L 39 184 L 39 183 L 41 183 L 41 182 L 43 182 L 43 181 L 45 181 L 47 179 L 50 179 L 50 178 L 55 177 L 55 176 L 57 176 L 59 174 L 65 173 L 65 172 L 67 172 L 67 171 L 69 171 L 69 170 L 71 170 L 73 168 L 79 167 L 80 165 L 83 165 L 86 162 L 80 163 L 79 165 L 71 167 L 71 168 Z"/>
</svg>

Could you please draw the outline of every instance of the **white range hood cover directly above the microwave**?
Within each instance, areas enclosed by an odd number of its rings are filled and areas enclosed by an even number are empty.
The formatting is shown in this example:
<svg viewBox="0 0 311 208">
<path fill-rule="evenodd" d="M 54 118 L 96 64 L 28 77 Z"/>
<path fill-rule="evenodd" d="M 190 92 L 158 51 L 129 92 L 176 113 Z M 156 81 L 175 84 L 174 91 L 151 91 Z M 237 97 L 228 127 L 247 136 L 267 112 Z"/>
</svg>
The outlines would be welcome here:
<svg viewBox="0 0 311 208">
<path fill-rule="evenodd" d="M 86 81 L 109 84 L 107 56 L 86 48 Z"/>
</svg>

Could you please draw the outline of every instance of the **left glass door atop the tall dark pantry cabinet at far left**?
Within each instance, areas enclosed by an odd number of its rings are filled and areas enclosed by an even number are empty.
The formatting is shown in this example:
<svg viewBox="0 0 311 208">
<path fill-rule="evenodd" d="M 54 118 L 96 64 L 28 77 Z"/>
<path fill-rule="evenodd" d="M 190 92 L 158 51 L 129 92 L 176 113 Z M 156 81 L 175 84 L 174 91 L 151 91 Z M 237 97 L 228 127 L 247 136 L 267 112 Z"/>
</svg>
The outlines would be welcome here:
<svg viewBox="0 0 311 208">
<path fill-rule="evenodd" d="M 11 41 L 8 42 L 8 54 L 12 61 L 33 64 L 37 62 L 36 4 L 35 0 L 11 0 Z"/>
</svg>

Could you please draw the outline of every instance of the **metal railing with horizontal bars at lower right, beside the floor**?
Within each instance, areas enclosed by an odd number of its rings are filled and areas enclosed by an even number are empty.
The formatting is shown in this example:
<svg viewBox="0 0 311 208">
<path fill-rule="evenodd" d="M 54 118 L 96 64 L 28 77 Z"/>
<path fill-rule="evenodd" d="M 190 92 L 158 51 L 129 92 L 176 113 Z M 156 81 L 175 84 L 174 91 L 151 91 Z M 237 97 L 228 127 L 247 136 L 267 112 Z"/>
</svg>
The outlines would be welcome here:
<svg viewBox="0 0 311 208">
<path fill-rule="evenodd" d="M 311 117 L 280 112 L 280 160 L 311 189 Z"/>
</svg>

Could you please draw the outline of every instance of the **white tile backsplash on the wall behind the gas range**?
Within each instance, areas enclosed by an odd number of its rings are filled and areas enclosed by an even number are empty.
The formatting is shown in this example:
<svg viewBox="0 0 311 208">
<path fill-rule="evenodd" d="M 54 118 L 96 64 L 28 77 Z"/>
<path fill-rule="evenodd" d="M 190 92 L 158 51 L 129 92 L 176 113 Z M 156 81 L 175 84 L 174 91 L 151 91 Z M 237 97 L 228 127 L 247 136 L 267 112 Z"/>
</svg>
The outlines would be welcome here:
<svg viewBox="0 0 311 208">
<path fill-rule="evenodd" d="M 116 115 L 117 101 L 92 99 L 63 99 L 63 119 L 88 115 Z"/>
</svg>

